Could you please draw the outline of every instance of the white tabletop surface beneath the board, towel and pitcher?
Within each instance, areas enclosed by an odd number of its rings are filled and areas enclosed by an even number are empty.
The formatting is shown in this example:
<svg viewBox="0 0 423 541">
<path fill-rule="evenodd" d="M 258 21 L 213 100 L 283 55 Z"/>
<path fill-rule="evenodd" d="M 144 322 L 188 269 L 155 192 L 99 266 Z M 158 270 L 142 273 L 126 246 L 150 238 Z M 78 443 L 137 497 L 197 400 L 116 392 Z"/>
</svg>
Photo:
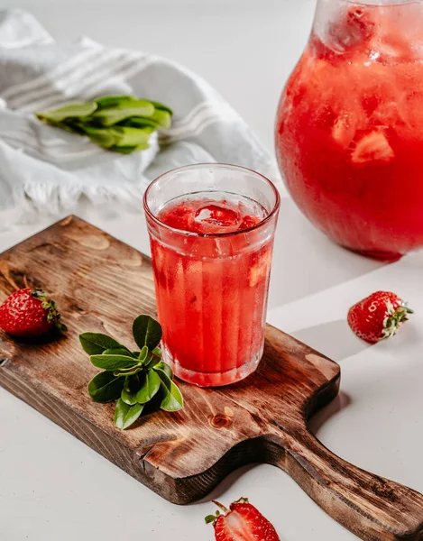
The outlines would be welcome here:
<svg viewBox="0 0 423 541">
<path fill-rule="evenodd" d="M 16 0 L 3 5 L 15 6 Z M 168 56 L 207 78 L 272 146 L 280 89 L 307 40 L 313 0 L 21 0 L 60 40 L 84 34 Z M 148 252 L 142 215 L 81 203 L 75 212 Z M 121 214 L 119 214 L 119 212 Z M 0 234 L 0 251 L 52 219 Z M 268 320 L 342 367 L 342 391 L 313 427 L 336 454 L 423 492 L 423 254 L 391 265 L 330 243 L 282 201 Z M 345 323 L 348 307 L 376 289 L 409 299 L 416 315 L 400 334 L 368 346 Z M 0 390 L 0 539 L 5 541 L 212 540 L 207 501 L 178 507 Z M 354 536 L 269 465 L 234 472 L 213 493 L 248 496 L 282 541 Z"/>
</svg>

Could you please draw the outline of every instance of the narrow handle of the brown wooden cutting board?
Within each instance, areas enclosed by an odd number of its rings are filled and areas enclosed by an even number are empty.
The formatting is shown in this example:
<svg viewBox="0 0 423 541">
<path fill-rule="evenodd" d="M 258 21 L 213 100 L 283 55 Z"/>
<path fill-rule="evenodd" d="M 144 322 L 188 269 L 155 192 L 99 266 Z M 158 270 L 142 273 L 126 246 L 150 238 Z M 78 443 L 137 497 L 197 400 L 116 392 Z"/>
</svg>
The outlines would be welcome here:
<svg viewBox="0 0 423 541">
<path fill-rule="evenodd" d="M 277 465 L 317 504 L 366 541 L 423 539 L 423 495 L 345 462 L 307 428 L 280 433 Z"/>
</svg>

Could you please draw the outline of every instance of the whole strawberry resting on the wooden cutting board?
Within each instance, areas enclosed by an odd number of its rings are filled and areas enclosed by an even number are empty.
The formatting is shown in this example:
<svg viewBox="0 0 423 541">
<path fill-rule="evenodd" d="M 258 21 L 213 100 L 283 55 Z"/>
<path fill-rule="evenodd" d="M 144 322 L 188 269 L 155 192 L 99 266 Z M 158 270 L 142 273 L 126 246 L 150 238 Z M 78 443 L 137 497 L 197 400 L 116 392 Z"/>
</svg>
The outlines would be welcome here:
<svg viewBox="0 0 423 541">
<path fill-rule="evenodd" d="M 41 336 L 53 327 L 66 331 L 56 303 L 41 289 L 14 291 L 0 306 L 0 328 L 9 335 Z"/>
</svg>

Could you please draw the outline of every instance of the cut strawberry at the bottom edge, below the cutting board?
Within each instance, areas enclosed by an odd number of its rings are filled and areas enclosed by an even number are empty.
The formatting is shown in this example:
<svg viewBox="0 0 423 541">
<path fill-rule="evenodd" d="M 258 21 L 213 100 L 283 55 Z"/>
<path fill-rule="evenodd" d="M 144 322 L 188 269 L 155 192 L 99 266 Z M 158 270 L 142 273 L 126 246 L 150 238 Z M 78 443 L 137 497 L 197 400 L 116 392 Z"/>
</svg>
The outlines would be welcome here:
<svg viewBox="0 0 423 541">
<path fill-rule="evenodd" d="M 213 503 L 225 512 L 222 515 L 216 511 L 216 515 L 206 517 L 207 524 L 213 522 L 216 541 L 280 541 L 269 520 L 246 498 L 234 501 L 229 509 L 218 501 Z"/>
</svg>

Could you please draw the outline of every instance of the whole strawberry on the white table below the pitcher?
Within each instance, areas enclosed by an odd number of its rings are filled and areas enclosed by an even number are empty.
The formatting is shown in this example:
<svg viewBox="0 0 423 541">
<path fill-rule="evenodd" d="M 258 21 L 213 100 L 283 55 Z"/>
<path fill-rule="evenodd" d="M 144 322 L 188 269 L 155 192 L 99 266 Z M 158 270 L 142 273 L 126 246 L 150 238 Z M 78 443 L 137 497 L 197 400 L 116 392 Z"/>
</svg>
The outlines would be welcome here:
<svg viewBox="0 0 423 541">
<path fill-rule="evenodd" d="M 413 311 L 389 291 L 376 291 L 348 311 L 348 325 L 366 342 L 374 344 L 397 333 Z"/>
</svg>

